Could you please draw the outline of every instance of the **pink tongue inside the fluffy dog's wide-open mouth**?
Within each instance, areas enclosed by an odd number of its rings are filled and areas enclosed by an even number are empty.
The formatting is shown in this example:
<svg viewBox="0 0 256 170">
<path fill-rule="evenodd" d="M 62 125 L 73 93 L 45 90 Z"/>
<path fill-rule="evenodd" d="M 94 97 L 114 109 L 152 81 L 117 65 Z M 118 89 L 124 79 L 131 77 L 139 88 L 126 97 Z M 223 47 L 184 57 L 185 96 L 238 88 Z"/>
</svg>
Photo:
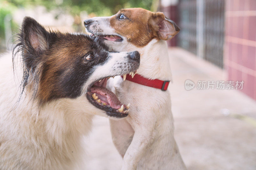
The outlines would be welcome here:
<svg viewBox="0 0 256 170">
<path fill-rule="evenodd" d="M 92 94 L 96 93 L 96 95 L 100 94 L 100 99 L 108 102 L 112 108 L 119 109 L 122 106 L 122 103 L 117 99 L 116 95 L 104 87 L 93 86 L 91 88 L 91 92 Z"/>
</svg>

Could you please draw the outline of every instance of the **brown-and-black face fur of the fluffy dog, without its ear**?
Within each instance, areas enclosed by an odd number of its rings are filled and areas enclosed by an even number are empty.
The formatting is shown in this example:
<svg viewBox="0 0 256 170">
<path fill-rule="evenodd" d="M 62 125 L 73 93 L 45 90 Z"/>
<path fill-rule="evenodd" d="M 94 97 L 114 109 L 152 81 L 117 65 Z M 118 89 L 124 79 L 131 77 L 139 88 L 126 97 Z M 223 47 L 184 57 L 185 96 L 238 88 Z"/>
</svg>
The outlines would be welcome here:
<svg viewBox="0 0 256 170">
<path fill-rule="evenodd" d="M 104 50 L 85 35 L 57 33 L 55 43 L 42 56 L 38 85 L 40 102 L 79 96 L 90 70 L 105 61 L 107 53 Z M 95 63 L 84 63 L 83 57 L 91 53 L 102 56 L 100 61 L 94 59 Z"/>
</svg>

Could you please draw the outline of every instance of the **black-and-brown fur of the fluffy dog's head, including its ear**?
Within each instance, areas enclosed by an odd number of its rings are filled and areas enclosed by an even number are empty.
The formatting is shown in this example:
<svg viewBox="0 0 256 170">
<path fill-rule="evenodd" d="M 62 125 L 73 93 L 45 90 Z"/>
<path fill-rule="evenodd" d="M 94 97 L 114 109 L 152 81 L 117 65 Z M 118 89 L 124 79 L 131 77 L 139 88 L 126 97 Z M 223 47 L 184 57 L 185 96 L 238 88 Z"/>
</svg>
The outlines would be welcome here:
<svg viewBox="0 0 256 170">
<path fill-rule="evenodd" d="M 34 39 L 29 39 L 29 36 Z M 59 98 L 76 98 L 81 95 L 84 83 L 94 68 L 108 61 L 106 45 L 97 38 L 83 34 L 48 32 L 33 18 L 25 17 L 17 36 L 18 43 L 13 49 L 14 59 L 22 55 L 23 78 L 21 93 L 28 84 L 33 86 L 34 99 L 40 104 Z M 39 42 L 35 47 L 31 40 Z M 83 57 L 93 54 L 91 61 L 84 62 Z"/>
</svg>

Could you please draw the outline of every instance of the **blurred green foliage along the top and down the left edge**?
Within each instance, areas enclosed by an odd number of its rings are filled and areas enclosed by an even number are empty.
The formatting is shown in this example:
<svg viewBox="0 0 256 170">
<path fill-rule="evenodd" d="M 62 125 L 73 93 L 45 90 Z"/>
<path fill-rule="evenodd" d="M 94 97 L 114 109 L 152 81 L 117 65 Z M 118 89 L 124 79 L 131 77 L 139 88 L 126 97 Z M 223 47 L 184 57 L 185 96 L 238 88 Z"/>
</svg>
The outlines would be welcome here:
<svg viewBox="0 0 256 170">
<path fill-rule="evenodd" d="M 141 7 L 150 10 L 152 0 L 0 0 L 0 46 L 4 43 L 4 17 L 17 8 L 33 8 L 38 5 L 45 6 L 49 11 L 58 9 L 57 11 L 76 17 L 80 16 L 81 11 L 86 11 L 91 16 L 110 16 L 122 8 Z M 55 17 L 58 18 L 59 15 L 61 13 Z M 15 32 L 17 25 L 12 22 L 11 26 Z M 81 27 L 81 24 L 76 23 L 75 26 Z"/>
</svg>

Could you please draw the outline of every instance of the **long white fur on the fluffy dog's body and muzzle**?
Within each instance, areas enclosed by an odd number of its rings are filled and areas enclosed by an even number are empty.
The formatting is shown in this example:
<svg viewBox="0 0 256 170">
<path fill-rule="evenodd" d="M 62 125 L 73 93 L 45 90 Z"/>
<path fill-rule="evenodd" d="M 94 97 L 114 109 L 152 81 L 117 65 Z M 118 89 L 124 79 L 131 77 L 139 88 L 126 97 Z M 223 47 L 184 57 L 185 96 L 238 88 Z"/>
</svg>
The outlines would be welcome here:
<svg viewBox="0 0 256 170">
<path fill-rule="evenodd" d="M 112 53 L 107 63 L 95 69 L 80 97 L 54 100 L 38 107 L 27 90 L 18 101 L 23 76 L 20 55 L 14 62 L 14 73 L 11 54 L 1 56 L 0 169 L 81 169 L 81 138 L 90 131 L 94 114 L 107 116 L 89 103 L 85 90 L 101 76 L 122 72 L 123 68 L 114 71 L 114 63 L 127 59 L 127 53 Z"/>
</svg>

